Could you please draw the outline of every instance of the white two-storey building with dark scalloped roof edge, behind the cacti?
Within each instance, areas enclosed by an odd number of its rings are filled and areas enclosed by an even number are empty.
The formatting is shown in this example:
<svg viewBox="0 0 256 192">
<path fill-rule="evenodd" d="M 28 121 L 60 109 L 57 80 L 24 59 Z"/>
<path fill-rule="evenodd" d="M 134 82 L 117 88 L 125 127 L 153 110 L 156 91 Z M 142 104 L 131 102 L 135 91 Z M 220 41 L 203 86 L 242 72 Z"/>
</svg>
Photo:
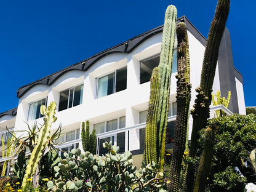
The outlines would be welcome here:
<svg viewBox="0 0 256 192">
<path fill-rule="evenodd" d="M 190 23 L 183 20 L 188 28 L 191 65 L 191 105 L 199 86 L 202 60 L 206 39 Z M 121 152 L 143 153 L 143 128 L 150 98 L 150 76 L 158 65 L 161 52 L 163 26 L 140 34 L 110 49 L 104 50 L 86 60 L 50 74 L 38 81 L 20 87 L 17 109 L 0 114 L 0 131 L 6 134 L 6 127 L 25 130 L 34 120 L 42 122 L 39 107 L 42 104 L 57 103 L 55 129 L 62 124 L 68 140 L 59 148 L 68 150 L 81 148 L 80 126 L 82 121 L 90 121 L 90 129 L 97 132 L 97 153 L 103 153 L 102 143 L 113 140 Z M 173 134 L 176 114 L 177 55 L 171 77 L 169 129 Z M 231 91 L 231 102 L 227 113 L 246 114 L 242 75 L 233 66 L 230 33 L 225 30 L 218 65 L 215 72 L 213 93 L 220 90 L 222 96 Z M 216 109 L 216 108 L 215 108 Z M 214 115 L 214 113 L 212 113 Z M 192 118 L 190 117 L 190 125 Z M 191 126 L 190 126 L 191 134 Z M 7 138 L 7 136 L 6 136 Z M 170 147 L 170 146 L 169 146 Z"/>
</svg>

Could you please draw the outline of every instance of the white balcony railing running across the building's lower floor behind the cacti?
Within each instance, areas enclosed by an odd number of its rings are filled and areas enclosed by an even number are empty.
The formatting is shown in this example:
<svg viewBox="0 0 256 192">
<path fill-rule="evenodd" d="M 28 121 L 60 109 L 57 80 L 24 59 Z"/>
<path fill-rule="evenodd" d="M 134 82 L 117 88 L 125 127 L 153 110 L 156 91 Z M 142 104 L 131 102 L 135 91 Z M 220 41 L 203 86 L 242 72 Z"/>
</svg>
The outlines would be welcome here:
<svg viewBox="0 0 256 192">
<path fill-rule="evenodd" d="M 212 106 L 210 108 L 210 112 L 212 111 L 217 111 L 217 110 L 223 110 L 227 115 L 231 115 L 233 114 L 230 110 L 228 110 L 228 108 L 226 108 L 225 106 L 223 105 L 217 105 L 217 106 Z M 170 121 L 175 121 L 176 119 L 176 116 L 169 116 L 168 117 L 168 122 Z M 146 123 L 141 123 L 141 124 L 137 124 L 137 125 L 134 125 L 134 126 L 130 126 L 130 127 L 124 127 L 124 128 L 121 128 L 121 129 L 116 129 L 116 130 L 111 130 L 109 132 L 105 132 L 105 133 L 102 133 L 102 134 L 97 134 L 97 153 L 98 153 L 98 150 L 99 150 L 99 141 L 100 139 L 103 139 L 103 138 L 108 138 L 108 137 L 116 137 L 117 134 L 121 134 L 123 132 L 125 132 L 125 145 L 126 145 L 126 150 L 129 150 L 129 146 L 130 146 L 130 141 L 129 141 L 129 137 L 127 134 L 128 132 L 132 131 L 132 130 L 140 130 L 140 129 L 143 129 L 146 127 Z M 0 132 L 1 134 L 2 132 Z M 79 139 L 76 139 L 76 140 L 71 140 L 69 142 L 65 142 L 65 143 L 62 143 L 60 145 L 56 145 L 57 148 L 65 148 L 65 147 L 68 147 L 68 146 L 72 146 L 72 145 L 76 145 L 77 143 L 81 143 L 81 138 Z M 116 141 L 115 141 L 116 142 Z M 0 162 L 4 162 L 6 160 L 8 160 L 10 158 L 1 158 L 0 159 Z"/>
</svg>

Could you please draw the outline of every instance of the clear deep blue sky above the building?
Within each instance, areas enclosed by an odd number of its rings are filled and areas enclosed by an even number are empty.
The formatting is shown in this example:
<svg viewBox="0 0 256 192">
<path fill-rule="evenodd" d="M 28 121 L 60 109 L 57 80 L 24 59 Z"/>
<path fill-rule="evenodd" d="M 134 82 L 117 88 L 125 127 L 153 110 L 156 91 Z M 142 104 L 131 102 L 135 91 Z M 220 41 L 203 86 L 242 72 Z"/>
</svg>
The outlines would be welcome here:
<svg viewBox="0 0 256 192">
<path fill-rule="evenodd" d="M 0 113 L 17 107 L 16 90 L 164 22 L 169 4 L 205 36 L 217 0 L 0 1 Z M 256 106 L 255 0 L 231 0 L 226 24 L 246 106 Z"/>
</svg>

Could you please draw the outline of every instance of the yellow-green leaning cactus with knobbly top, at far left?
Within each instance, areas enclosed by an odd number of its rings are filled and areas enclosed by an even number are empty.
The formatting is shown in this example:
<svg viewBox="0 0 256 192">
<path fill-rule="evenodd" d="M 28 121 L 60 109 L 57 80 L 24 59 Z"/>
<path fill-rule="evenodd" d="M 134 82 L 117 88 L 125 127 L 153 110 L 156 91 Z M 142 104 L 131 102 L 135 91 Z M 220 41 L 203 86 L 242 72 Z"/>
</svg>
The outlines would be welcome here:
<svg viewBox="0 0 256 192">
<path fill-rule="evenodd" d="M 38 162 L 42 156 L 42 151 L 44 150 L 47 140 L 50 135 L 50 127 L 52 123 L 57 120 L 55 117 L 55 109 L 56 103 L 51 102 L 46 110 L 46 106 L 42 105 L 40 108 L 40 112 L 44 115 L 44 124 L 40 130 L 40 134 L 38 137 L 38 142 L 34 147 L 34 150 L 31 153 L 30 161 L 28 162 L 28 166 L 26 166 L 26 174 L 24 175 L 22 186 L 24 187 L 27 183 L 28 178 L 31 178 L 36 172 L 36 167 L 38 166 Z"/>
</svg>

